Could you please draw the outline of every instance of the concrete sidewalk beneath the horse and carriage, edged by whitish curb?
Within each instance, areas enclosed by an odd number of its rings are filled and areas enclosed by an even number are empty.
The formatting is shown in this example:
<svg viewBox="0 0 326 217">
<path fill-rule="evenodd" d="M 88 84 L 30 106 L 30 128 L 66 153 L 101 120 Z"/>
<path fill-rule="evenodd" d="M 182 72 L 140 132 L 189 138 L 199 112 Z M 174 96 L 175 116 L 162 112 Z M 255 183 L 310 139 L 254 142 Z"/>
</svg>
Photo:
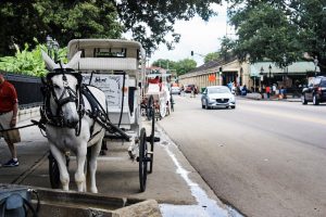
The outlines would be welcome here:
<svg viewBox="0 0 326 217">
<path fill-rule="evenodd" d="M 38 120 L 39 118 L 35 119 Z M 30 124 L 30 119 L 27 118 L 21 122 L 18 126 L 28 124 Z M 147 128 L 147 132 L 150 133 L 150 123 L 145 122 L 143 125 Z M 41 135 L 37 126 L 23 128 L 20 131 L 22 138 L 22 142 L 17 143 L 20 166 L 12 168 L 0 167 L 0 183 L 50 189 L 49 146 L 47 139 Z M 141 193 L 139 191 L 139 166 L 136 161 L 130 161 L 127 153 L 127 145 L 124 143 L 111 144 L 108 142 L 109 154 L 100 156 L 98 161 L 97 186 L 99 195 L 128 199 L 131 201 L 155 200 L 160 204 L 163 216 L 164 213 L 165 216 L 174 215 L 173 212 L 183 214 L 181 216 L 184 214 L 187 215 L 187 212 L 189 215 L 199 214 L 202 216 L 234 215 L 235 210 L 224 205 L 215 196 L 200 175 L 180 153 L 177 145 L 158 126 L 155 128 L 155 136 L 161 138 L 161 142 L 154 146 L 153 173 L 148 175 L 146 192 Z M 9 156 L 8 146 L 3 139 L 0 139 L 1 163 L 5 163 Z M 76 190 L 74 183 L 75 167 L 76 162 L 72 156 L 70 163 L 70 187 L 73 191 Z M 180 170 L 186 174 L 180 174 Z M 188 180 L 191 180 L 190 186 L 187 183 Z M 193 184 L 200 188 L 200 192 L 204 192 L 204 202 L 200 202 L 201 199 L 193 194 L 191 190 Z M 153 208 L 155 209 L 156 207 Z M 206 214 L 208 210 L 214 212 L 213 214 Z"/>
</svg>

